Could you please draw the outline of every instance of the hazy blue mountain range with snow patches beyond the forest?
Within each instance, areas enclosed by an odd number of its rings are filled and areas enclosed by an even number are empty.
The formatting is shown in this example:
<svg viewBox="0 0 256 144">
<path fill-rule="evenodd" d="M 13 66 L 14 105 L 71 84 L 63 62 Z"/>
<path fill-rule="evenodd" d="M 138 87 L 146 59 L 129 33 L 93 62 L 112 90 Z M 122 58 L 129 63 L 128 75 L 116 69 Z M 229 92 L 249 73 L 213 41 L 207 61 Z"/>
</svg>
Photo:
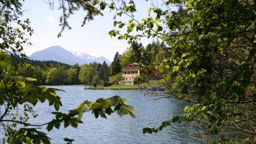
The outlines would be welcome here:
<svg viewBox="0 0 256 144">
<path fill-rule="evenodd" d="M 111 64 L 111 62 L 105 58 L 104 56 L 95 57 L 91 56 L 90 54 L 86 53 L 79 53 L 79 52 L 70 52 L 64 49 L 63 47 L 60 47 L 59 45 L 48 47 L 47 49 L 44 49 L 42 51 L 37 51 L 35 53 L 32 53 L 29 56 L 32 60 L 54 60 L 57 62 L 62 62 L 65 64 L 90 64 L 92 62 L 97 62 L 100 64 L 103 64 L 105 61 L 108 65 Z"/>
</svg>

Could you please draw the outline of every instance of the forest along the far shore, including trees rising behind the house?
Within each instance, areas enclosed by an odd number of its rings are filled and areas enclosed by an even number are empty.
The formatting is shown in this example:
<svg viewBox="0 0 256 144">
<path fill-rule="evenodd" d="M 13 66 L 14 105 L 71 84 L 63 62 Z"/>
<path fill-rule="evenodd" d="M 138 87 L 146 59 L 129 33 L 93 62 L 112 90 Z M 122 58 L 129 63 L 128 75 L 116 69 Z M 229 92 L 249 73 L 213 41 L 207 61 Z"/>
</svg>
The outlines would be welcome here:
<svg viewBox="0 0 256 144">
<path fill-rule="evenodd" d="M 12 75 L 22 75 L 32 77 L 38 80 L 42 85 L 70 85 L 70 84 L 99 84 L 109 86 L 118 84 L 122 79 L 122 67 L 133 62 L 140 63 L 140 67 L 155 67 L 170 53 L 170 49 L 163 42 L 152 42 L 146 47 L 142 43 L 134 42 L 123 54 L 116 52 L 113 62 L 110 66 L 103 62 L 98 64 L 84 64 L 79 66 L 75 64 L 70 66 L 54 61 L 39 61 L 22 59 L 22 66 Z M 14 60 L 14 58 L 12 58 Z M 10 67 L 12 69 L 13 67 Z M 145 69 L 147 73 L 151 69 Z"/>
</svg>

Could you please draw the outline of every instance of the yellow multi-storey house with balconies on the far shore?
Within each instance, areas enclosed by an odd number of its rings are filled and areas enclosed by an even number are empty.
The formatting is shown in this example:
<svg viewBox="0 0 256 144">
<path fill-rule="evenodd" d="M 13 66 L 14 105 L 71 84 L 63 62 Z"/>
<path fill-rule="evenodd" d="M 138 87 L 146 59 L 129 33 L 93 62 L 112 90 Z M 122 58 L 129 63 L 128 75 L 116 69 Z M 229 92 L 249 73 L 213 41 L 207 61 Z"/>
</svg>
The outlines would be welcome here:
<svg viewBox="0 0 256 144">
<path fill-rule="evenodd" d="M 135 77 L 140 77 L 138 63 L 134 62 L 133 64 L 128 64 L 127 67 L 123 67 L 122 73 L 120 84 L 133 84 Z"/>
</svg>

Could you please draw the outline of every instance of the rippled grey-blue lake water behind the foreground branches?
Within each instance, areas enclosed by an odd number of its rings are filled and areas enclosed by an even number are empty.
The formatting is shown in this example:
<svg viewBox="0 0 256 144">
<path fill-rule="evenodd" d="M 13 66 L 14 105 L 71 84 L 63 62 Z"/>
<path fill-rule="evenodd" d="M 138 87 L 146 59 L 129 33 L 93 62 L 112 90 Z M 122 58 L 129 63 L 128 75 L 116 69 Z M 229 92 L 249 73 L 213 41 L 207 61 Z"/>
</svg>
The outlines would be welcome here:
<svg viewBox="0 0 256 144">
<path fill-rule="evenodd" d="M 173 115 L 183 114 L 186 105 L 183 101 L 175 99 L 160 99 L 148 101 L 140 90 L 84 90 L 83 86 L 49 86 L 58 88 L 57 94 L 61 97 L 61 112 L 76 108 L 84 100 L 96 101 L 101 97 L 107 98 L 119 95 L 123 98 L 132 99 L 127 104 L 136 108 L 136 118 L 129 115 L 120 117 L 118 114 L 107 115 L 107 119 L 95 118 L 91 112 L 83 116 L 83 124 L 77 128 L 54 128 L 47 132 L 52 143 L 65 143 L 64 138 L 74 139 L 73 143 L 198 143 L 199 139 L 188 136 L 185 125 L 173 124 L 164 128 L 157 134 L 143 134 L 142 128 L 160 126 L 162 121 L 172 119 Z M 34 108 L 38 115 L 32 123 L 45 123 L 51 121 L 54 115 L 48 103 L 38 104 Z"/>
</svg>

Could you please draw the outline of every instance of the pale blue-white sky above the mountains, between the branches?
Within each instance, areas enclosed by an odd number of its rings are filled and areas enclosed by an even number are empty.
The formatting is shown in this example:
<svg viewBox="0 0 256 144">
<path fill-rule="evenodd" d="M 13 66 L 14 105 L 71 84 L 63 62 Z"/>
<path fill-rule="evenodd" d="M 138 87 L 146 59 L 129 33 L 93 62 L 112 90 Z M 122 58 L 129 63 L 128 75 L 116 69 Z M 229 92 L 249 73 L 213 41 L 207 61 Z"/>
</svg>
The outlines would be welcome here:
<svg viewBox="0 0 256 144">
<path fill-rule="evenodd" d="M 81 27 L 83 21 L 83 11 L 76 12 L 70 18 L 71 30 L 66 29 L 60 38 L 57 38 L 60 32 L 59 17 L 61 11 L 58 10 L 58 1 L 55 1 L 55 9 L 51 10 L 49 5 L 43 0 L 25 0 L 23 3 L 23 18 L 31 20 L 31 27 L 34 34 L 30 38 L 31 46 L 25 46 L 25 53 L 30 55 L 53 45 L 60 45 L 69 51 L 79 51 L 92 56 L 105 56 L 110 61 L 113 60 L 116 51 L 123 53 L 128 43 L 125 40 L 110 38 L 109 30 L 114 29 L 113 16 L 109 9 L 103 11 L 104 16 L 97 16 L 94 21 L 90 21 L 84 27 Z M 142 19 L 147 16 L 149 2 L 136 1 L 138 3 L 138 13 L 136 18 Z M 122 18 L 128 20 L 129 18 Z M 151 40 L 141 41 L 144 46 Z"/>
</svg>

